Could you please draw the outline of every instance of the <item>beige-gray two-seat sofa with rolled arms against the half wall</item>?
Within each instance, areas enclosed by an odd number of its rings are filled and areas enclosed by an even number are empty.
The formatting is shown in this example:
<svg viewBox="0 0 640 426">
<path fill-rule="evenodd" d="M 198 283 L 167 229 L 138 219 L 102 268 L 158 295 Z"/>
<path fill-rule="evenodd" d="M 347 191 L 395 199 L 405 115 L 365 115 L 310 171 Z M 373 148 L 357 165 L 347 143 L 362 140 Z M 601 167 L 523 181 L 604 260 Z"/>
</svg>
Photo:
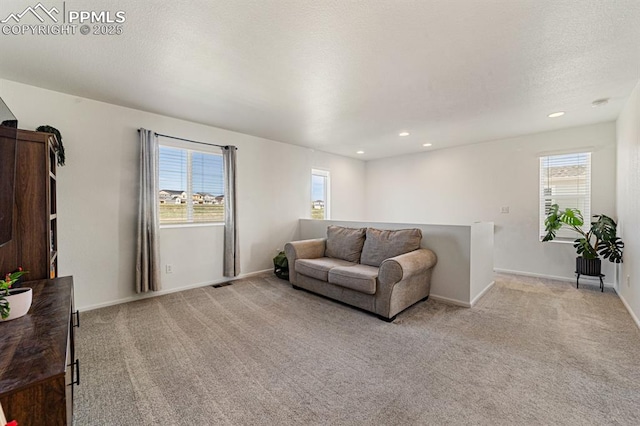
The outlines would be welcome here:
<svg viewBox="0 0 640 426">
<path fill-rule="evenodd" d="M 289 281 L 393 321 L 429 297 L 437 258 L 421 240 L 419 229 L 329 226 L 327 238 L 285 245 Z"/>
</svg>

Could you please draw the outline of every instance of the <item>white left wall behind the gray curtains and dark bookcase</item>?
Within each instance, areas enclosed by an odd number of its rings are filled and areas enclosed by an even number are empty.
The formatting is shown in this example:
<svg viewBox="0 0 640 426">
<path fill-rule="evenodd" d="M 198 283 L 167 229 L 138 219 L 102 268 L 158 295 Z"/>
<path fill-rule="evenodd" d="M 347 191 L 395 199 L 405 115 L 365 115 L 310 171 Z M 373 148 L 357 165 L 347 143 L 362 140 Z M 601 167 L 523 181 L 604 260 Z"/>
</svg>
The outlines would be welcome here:
<svg viewBox="0 0 640 426">
<path fill-rule="evenodd" d="M 137 129 L 238 146 L 241 270 L 269 269 L 310 216 L 311 168 L 331 171 L 332 217 L 361 219 L 364 163 L 336 155 L 0 80 L 23 129 L 62 133 L 58 173 L 60 275 L 73 275 L 80 309 L 135 298 Z M 161 230 L 164 290 L 223 281 L 220 226 Z"/>
</svg>

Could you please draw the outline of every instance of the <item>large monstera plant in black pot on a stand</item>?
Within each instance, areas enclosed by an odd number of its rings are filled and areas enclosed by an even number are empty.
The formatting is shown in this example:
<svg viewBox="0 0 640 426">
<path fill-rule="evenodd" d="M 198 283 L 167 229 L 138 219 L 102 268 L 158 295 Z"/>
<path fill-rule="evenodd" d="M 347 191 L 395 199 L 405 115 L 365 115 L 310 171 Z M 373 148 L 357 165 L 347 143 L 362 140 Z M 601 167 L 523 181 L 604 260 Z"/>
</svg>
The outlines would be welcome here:
<svg viewBox="0 0 640 426">
<path fill-rule="evenodd" d="M 568 227 L 579 234 L 573 246 L 576 248 L 576 274 L 588 275 L 600 278 L 600 289 L 604 291 L 602 283 L 601 257 L 614 263 L 622 262 L 622 250 L 624 243 L 618 237 L 617 224 L 609 216 L 603 214 L 594 215 L 591 228 L 587 232 L 582 229 L 584 218 L 578 209 L 567 208 L 560 210 L 557 204 L 551 205 L 549 213 L 544 221 L 547 233 L 542 241 L 551 241 L 556 238 L 558 230 Z M 578 281 L 576 281 L 576 287 Z"/>
</svg>

